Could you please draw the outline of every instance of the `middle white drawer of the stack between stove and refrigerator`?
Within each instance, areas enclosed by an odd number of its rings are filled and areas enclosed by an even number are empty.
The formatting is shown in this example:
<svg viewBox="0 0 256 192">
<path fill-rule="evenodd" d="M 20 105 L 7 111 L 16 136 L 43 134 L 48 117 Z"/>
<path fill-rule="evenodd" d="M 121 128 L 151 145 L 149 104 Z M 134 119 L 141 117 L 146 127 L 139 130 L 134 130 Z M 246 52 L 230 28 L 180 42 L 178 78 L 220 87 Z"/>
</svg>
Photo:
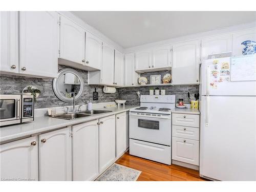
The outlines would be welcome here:
<svg viewBox="0 0 256 192">
<path fill-rule="evenodd" d="M 172 134 L 174 137 L 181 137 L 185 139 L 199 140 L 199 129 L 189 126 L 172 126 Z"/>
</svg>

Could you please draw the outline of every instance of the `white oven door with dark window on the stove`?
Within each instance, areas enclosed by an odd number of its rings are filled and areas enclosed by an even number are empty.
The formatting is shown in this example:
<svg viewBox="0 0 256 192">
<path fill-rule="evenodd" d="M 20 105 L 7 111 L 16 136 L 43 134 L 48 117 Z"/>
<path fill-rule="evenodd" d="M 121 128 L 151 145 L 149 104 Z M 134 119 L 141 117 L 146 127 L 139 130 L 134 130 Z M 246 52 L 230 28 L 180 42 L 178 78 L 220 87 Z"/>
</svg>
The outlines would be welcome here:
<svg viewBox="0 0 256 192">
<path fill-rule="evenodd" d="M 172 142 L 171 115 L 130 112 L 131 139 L 170 146 Z"/>
</svg>

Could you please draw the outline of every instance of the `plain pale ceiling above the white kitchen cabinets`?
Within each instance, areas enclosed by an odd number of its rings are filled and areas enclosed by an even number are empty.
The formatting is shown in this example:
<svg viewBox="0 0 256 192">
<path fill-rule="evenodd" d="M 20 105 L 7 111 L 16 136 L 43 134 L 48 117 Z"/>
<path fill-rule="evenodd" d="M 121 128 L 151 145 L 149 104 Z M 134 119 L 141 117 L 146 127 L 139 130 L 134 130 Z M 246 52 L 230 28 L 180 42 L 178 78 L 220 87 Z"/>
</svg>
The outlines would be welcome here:
<svg viewBox="0 0 256 192">
<path fill-rule="evenodd" d="M 123 48 L 256 21 L 244 11 L 72 11 Z"/>
</svg>

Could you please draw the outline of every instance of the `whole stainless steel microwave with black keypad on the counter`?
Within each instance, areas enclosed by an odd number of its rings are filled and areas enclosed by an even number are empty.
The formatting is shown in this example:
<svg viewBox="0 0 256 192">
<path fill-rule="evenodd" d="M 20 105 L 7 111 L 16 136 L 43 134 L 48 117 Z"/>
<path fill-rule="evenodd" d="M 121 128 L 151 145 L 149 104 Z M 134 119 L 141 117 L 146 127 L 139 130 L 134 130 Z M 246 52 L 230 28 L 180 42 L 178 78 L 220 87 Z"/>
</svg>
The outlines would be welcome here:
<svg viewBox="0 0 256 192">
<path fill-rule="evenodd" d="M 0 126 L 33 120 L 33 95 L 0 95 Z"/>
</svg>

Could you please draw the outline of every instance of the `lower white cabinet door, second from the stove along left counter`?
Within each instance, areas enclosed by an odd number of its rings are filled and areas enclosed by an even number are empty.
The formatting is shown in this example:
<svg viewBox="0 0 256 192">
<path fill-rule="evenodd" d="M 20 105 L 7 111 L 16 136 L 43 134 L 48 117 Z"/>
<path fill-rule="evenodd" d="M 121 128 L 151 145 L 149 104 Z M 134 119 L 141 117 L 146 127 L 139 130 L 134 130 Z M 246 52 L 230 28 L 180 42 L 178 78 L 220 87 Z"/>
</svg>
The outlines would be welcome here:
<svg viewBox="0 0 256 192">
<path fill-rule="evenodd" d="M 116 158 L 115 115 L 99 119 L 99 173 Z"/>
</svg>

